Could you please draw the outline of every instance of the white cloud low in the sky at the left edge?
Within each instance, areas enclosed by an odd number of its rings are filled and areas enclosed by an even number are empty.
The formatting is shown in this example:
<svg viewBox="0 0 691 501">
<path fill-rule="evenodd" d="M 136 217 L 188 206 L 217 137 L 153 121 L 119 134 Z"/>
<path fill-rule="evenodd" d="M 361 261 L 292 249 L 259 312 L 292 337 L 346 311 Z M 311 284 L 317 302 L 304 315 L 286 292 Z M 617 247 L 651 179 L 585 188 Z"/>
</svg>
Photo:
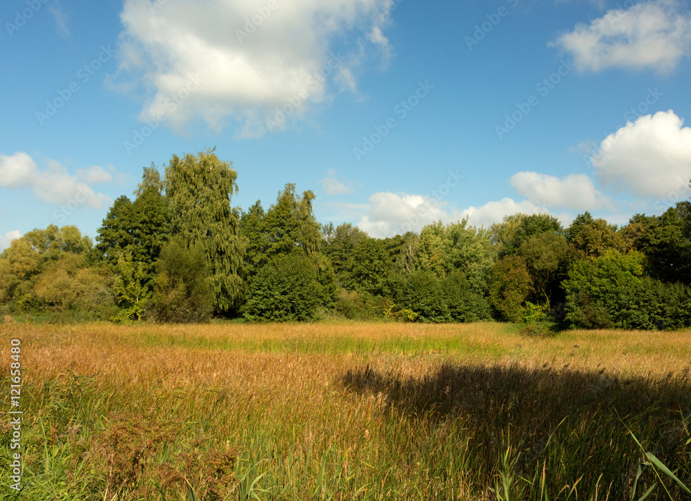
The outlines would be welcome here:
<svg viewBox="0 0 691 501">
<path fill-rule="evenodd" d="M 77 196 L 83 197 L 84 203 L 92 208 L 103 207 L 111 202 L 110 197 L 93 191 L 85 182 L 79 181 L 77 176 L 68 173 L 59 162 L 48 160 L 46 163 L 46 169 L 41 170 L 27 153 L 0 155 L 0 187 L 31 189 L 41 200 L 58 204 L 66 204 Z"/>
</svg>

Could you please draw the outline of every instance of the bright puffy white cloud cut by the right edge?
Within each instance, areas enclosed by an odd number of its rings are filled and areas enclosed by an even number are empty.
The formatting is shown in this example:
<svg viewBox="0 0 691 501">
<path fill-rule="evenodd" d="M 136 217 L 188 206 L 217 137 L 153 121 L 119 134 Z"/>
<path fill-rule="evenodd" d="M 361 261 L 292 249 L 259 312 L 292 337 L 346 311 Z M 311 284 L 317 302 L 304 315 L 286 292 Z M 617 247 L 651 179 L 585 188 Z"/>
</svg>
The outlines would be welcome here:
<svg viewBox="0 0 691 501">
<path fill-rule="evenodd" d="M 691 129 L 672 110 L 645 115 L 607 136 L 590 161 L 603 185 L 619 191 L 683 193 L 691 177 Z"/>
</svg>

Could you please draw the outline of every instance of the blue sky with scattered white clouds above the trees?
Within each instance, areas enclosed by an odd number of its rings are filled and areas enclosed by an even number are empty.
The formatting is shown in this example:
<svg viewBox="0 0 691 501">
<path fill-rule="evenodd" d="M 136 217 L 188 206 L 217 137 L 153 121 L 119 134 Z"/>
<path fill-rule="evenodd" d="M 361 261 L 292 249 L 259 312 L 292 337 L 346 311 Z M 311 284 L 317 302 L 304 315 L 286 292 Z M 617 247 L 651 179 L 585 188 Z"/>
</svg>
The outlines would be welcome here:
<svg viewBox="0 0 691 501">
<path fill-rule="evenodd" d="M 216 146 L 233 205 L 287 182 L 372 236 L 688 199 L 676 0 L 8 0 L 0 248 L 89 236 L 142 167 Z"/>
</svg>

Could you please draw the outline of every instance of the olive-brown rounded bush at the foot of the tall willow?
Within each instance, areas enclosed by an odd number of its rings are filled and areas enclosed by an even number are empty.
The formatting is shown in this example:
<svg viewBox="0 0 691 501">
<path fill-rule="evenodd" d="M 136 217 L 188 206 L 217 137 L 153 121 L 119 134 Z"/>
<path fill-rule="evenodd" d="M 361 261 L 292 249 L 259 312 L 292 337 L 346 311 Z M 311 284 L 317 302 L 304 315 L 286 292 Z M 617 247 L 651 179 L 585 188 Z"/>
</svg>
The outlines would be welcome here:
<svg viewBox="0 0 691 501">
<path fill-rule="evenodd" d="M 174 238 L 162 249 L 146 316 L 158 322 L 202 323 L 211 318 L 214 297 L 200 245 L 188 249 Z"/>
</svg>

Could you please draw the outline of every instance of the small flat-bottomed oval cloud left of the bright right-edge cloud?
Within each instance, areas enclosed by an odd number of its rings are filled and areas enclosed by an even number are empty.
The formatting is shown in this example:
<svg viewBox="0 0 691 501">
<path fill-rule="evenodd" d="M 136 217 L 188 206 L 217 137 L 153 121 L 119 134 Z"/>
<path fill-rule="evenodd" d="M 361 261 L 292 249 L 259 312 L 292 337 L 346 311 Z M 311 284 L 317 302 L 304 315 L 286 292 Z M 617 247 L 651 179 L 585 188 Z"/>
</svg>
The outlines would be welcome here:
<svg viewBox="0 0 691 501">
<path fill-rule="evenodd" d="M 537 172 L 519 172 L 511 178 L 511 186 L 519 195 L 543 207 L 575 211 L 612 207 L 611 200 L 603 196 L 585 174 L 557 178 Z"/>
</svg>

